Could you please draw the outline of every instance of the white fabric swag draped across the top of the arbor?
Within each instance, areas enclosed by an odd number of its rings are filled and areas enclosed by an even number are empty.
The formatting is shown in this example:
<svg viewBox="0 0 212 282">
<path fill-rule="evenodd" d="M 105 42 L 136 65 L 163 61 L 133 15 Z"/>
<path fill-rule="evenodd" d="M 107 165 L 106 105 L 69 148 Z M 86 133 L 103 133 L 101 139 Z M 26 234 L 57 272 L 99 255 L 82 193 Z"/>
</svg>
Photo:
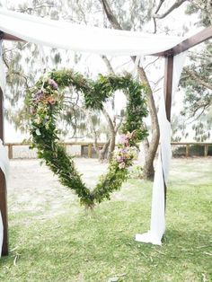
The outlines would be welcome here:
<svg viewBox="0 0 212 282">
<path fill-rule="evenodd" d="M 52 21 L 3 8 L 0 9 L 0 31 L 40 45 L 111 56 L 149 55 L 172 48 L 182 40 Z"/>
</svg>

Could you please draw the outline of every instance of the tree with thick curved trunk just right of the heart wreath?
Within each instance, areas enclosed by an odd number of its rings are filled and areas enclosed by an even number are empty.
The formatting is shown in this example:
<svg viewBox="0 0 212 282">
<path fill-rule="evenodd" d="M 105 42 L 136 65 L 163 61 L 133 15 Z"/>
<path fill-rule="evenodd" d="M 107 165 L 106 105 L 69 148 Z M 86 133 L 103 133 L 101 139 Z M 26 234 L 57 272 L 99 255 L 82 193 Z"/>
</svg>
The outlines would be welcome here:
<svg viewBox="0 0 212 282">
<path fill-rule="evenodd" d="M 133 30 L 142 31 L 145 24 L 153 22 L 153 32 L 158 30 L 158 22 L 179 8 L 186 0 L 176 1 L 109 1 L 100 0 L 102 8 L 107 15 L 110 26 L 118 30 Z M 168 5 L 165 5 L 167 4 Z M 170 4 L 171 3 L 171 4 Z M 165 8 L 164 8 L 165 7 Z M 162 9 L 163 8 L 163 9 Z M 162 11 L 162 13 L 161 13 Z M 161 25 L 161 24 L 160 24 Z M 162 25 L 160 30 L 165 29 Z M 135 61 L 135 57 L 131 57 Z M 159 143 L 159 125 L 156 114 L 154 90 L 151 87 L 150 79 L 147 77 L 146 69 L 143 66 L 137 67 L 137 73 L 142 82 L 148 87 L 147 105 L 149 116 L 151 119 L 151 138 L 145 140 L 145 163 L 144 163 L 144 178 L 153 179 L 154 177 L 154 160 Z"/>
</svg>

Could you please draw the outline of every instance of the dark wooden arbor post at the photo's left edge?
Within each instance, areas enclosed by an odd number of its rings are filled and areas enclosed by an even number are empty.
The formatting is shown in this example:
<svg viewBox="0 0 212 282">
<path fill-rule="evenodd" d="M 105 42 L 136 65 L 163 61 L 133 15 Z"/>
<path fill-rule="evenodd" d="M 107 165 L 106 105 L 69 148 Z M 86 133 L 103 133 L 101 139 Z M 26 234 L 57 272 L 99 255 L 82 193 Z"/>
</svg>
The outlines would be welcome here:
<svg viewBox="0 0 212 282">
<path fill-rule="evenodd" d="M 4 144 L 4 97 L 2 89 L 0 88 L 0 138 Z M 7 203 L 6 203 L 6 182 L 4 173 L 0 169 L 0 210 L 2 213 L 2 220 L 4 225 L 4 240 L 2 247 L 2 255 L 8 255 L 8 220 L 7 220 Z"/>
</svg>

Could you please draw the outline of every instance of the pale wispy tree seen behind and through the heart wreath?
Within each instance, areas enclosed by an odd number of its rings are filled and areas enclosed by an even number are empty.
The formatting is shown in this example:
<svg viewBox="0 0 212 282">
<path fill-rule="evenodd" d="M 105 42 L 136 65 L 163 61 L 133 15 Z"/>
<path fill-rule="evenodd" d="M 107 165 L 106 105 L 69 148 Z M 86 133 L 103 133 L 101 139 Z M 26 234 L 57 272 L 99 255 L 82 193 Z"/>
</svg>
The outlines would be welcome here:
<svg viewBox="0 0 212 282">
<path fill-rule="evenodd" d="M 92 23 L 93 25 L 102 25 L 102 11 L 101 4 L 94 1 L 25 1 L 22 4 L 13 4 L 10 6 L 12 10 L 21 13 L 30 13 L 42 17 L 49 17 L 53 20 L 62 19 L 66 22 L 76 23 Z M 101 15 L 100 15 L 101 13 Z M 93 14 L 95 16 L 93 16 Z M 57 36 L 57 35 L 56 35 Z M 7 45 L 8 46 L 8 45 Z M 71 55 L 71 56 L 70 56 Z M 71 57 L 71 58 L 70 58 Z M 31 87 L 39 78 L 50 68 L 59 68 L 60 66 L 77 67 L 81 61 L 82 56 L 79 53 L 67 52 L 51 48 L 47 53 L 40 56 L 40 48 L 30 43 L 11 43 L 9 47 L 4 49 L 4 63 L 7 66 L 7 82 L 8 91 L 6 100 L 11 107 L 7 107 L 7 119 L 14 123 L 16 128 L 25 131 L 28 128 L 28 116 L 26 109 L 23 106 L 22 100 L 24 99 L 24 92 L 26 88 Z M 113 72 L 110 66 L 110 61 L 107 57 L 102 56 L 103 62 L 109 68 L 109 72 Z M 84 68 L 84 73 L 92 75 L 90 67 Z M 64 102 L 64 110 L 61 113 L 63 123 L 61 132 L 64 136 L 70 137 L 93 137 L 94 148 L 99 155 L 100 159 L 105 158 L 108 151 L 108 159 L 115 148 L 115 138 L 122 121 L 122 116 L 117 119 L 116 115 L 111 115 L 107 107 L 103 107 L 101 112 L 91 114 L 83 109 L 80 97 L 72 93 L 72 89 L 68 89 L 66 100 Z M 71 95 L 72 94 L 72 95 Z M 102 115 L 108 126 L 104 126 L 105 122 L 102 121 Z M 90 127 L 87 124 L 90 120 Z M 104 135 L 106 137 L 106 145 L 99 149 L 97 145 L 98 138 Z"/>
</svg>

